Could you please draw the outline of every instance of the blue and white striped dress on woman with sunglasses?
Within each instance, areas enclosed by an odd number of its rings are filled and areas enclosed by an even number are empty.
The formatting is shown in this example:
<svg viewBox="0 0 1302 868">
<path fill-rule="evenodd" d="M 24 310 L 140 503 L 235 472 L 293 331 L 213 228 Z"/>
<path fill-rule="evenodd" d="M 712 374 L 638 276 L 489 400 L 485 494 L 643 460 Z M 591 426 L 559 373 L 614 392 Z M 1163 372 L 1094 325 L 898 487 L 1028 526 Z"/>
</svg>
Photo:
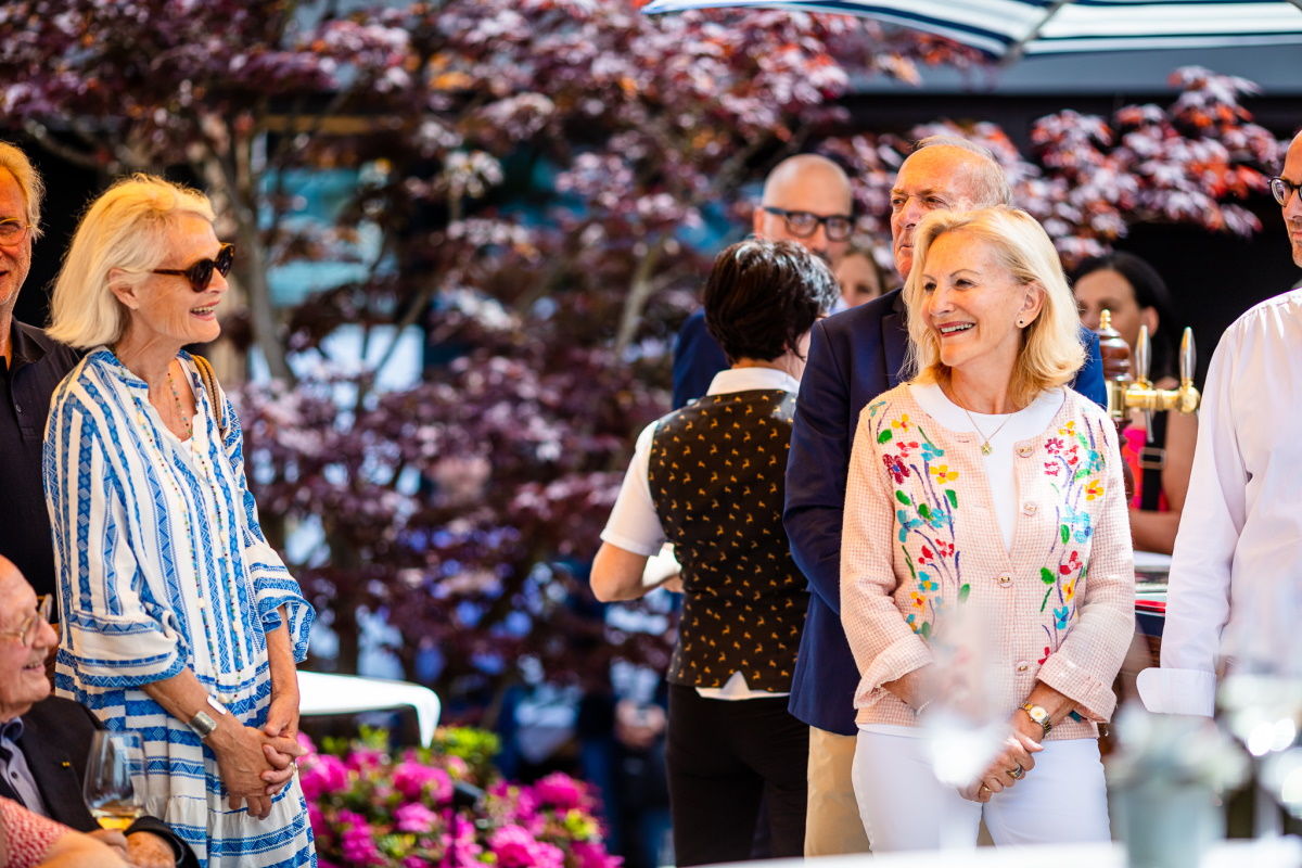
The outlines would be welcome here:
<svg viewBox="0 0 1302 868">
<path fill-rule="evenodd" d="M 245 481 L 240 422 L 208 396 L 187 353 L 194 433 L 163 424 L 145 381 L 107 349 L 55 392 L 46 431 L 46 500 L 60 579 L 56 688 L 111 730 L 135 730 L 147 807 L 207 868 L 315 865 L 297 776 L 258 820 L 230 811 L 212 751 L 141 690 L 190 668 L 249 726 L 271 701 L 266 631 L 285 608 L 294 658 L 314 612 L 267 544 Z M 215 423 L 216 401 L 225 439 Z"/>
</svg>

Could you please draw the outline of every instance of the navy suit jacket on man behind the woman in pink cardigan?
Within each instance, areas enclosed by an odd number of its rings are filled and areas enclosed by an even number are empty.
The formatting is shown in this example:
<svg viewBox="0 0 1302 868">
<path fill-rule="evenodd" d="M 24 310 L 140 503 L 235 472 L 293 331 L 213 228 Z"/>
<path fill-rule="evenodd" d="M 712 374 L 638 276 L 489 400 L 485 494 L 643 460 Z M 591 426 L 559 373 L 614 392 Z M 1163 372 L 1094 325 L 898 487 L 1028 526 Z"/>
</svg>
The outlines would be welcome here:
<svg viewBox="0 0 1302 868">
<path fill-rule="evenodd" d="M 1087 357 L 1073 388 L 1104 405 L 1099 338 L 1082 328 Z M 841 629 L 841 513 L 859 411 L 898 385 L 909 332 L 893 290 L 814 325 L 786 459 L 783 523 L 810 583 L 789 709 L 803 722 L 854 735 L 859 670 Z"/>
</svg>

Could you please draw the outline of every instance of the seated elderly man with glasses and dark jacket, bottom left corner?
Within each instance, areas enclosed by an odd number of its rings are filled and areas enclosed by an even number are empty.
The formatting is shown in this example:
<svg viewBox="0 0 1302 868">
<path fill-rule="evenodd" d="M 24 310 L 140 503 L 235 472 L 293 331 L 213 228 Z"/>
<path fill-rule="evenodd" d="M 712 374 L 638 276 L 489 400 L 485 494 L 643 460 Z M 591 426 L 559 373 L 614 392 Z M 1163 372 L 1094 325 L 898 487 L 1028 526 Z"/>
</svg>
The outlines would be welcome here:
<svg viewBox="0 0 1302 868">
<path fill-rule="evenodd" d="M 87 708 L 49 695 L 46 657 L 59 640 L 49 626 L 52 597 L 38 597 L 22 573 L 0 557 L 0 796 L 118 847 L 137 868 L 198 865 L 161 820 L 141 817 L 120 832 L 100 830 L 82 800 L 87 753 L 96 729 Z"/>
</svg>

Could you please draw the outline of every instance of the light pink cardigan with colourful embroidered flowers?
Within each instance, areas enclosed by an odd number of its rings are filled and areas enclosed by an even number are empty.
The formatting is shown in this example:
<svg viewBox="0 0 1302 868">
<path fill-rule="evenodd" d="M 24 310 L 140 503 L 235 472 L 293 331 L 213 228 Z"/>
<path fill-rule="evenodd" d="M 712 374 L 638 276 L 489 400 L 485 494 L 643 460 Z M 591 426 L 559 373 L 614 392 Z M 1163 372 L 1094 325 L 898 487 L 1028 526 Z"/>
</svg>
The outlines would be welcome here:
<svg viewBox="0 0 1302 868">
<path fill-rule="evenodd" d="M 841 622 L 859 666 L 859 724 L 915 725 L 881 687 L 928 662 L 954 606 L 991 621 L 1009 714 L 1042 681 L 1078 704 L 1049 738 L 1098 735 L 1134 632 L 1134 557 L 1117 433 L 1079 394 L 1016 445 L 1017 491 L 992 492 L 971 433 L 900 385 L 859 415 L 846 480 Z M 1016 497 L 1013 550 L 995 498 Z"/>
</svg>

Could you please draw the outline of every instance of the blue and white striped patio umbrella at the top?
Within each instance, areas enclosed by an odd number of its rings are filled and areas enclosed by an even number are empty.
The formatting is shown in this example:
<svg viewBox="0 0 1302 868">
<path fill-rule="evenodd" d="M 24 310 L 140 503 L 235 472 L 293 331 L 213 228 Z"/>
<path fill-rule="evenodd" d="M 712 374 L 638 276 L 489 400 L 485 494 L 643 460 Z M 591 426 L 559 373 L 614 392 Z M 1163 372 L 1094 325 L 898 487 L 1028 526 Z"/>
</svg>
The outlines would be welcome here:
<svg viewBox="0 0 1302 868">
<path fill-rule="evenodd" d="M 948 36 L 1005 60 L 1096 51 L 1302 46 L 1302 0 L 654 0 L 642 10 L 719 7 L 865 16 Z"/>
</svg>

